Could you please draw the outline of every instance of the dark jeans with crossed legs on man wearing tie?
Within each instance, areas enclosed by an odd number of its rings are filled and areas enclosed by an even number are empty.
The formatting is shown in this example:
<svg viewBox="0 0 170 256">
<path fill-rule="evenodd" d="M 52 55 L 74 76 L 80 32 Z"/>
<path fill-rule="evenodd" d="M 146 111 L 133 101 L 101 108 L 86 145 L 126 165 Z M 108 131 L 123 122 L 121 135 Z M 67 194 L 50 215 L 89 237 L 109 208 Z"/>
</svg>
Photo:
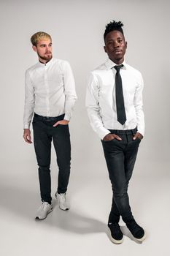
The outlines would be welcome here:
<svg viewBox="0 0 170 256">
<path fill-rule="evenodd" d="M 101 140 L 113 192 L 112 208 L 109 214 L 108 223 L 118 223 L 120 215 L 126 223 L 131 221 L 131 219 L 134 219 L 129 205 L 128 183 L 132 176 L 141 140 L 139 138 L 133 140 L 137 129 L 110 129 L 109 131 L 118 135 L 122 140 Z"/>
</svg>

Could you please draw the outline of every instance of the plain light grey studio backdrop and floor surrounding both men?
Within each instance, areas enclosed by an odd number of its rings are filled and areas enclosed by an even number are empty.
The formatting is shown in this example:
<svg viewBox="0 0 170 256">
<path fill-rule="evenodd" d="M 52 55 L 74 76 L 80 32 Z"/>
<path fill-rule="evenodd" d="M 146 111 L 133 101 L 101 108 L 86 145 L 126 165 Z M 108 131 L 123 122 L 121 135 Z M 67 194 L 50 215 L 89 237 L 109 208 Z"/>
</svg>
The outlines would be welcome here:
<svg viewBox="0 0 170 256">
<path fill-rule="evenodd" d="M 49 244 L 55 252 L 56 241 L 61 252 L 61 244 L 66 241 L 66 255 L 125 255 L 127 245 L 132 256 L 169 255 L 169 10 L 169 0 L 0 0 L 1 255 L 27 256 L 34 252 L 43 256 L 39 249 L 43 243 L 47 255 Z M 146 131 L 129 188 L 136 216 L 149 233 L 140 249 L 128 238 L 122 247 L 107 242 L 104 228 L 112 192 L 101 141 L 90 127 L 85 109 L 88 74 L 107 60 L 103 34 L 105 25 L 113 19 L 124 23 L 126 62 L 139 69 L 144 78 Z M 78 96 L 69 125 L 72 210 L 66 219 L 55 208 L 41 225 L 32 221 L 39 204 L 34 146 L 23 141 L 24 76 L 26 69 L 37 62 L 30 42 L 36 31 L 49 33 L 53 56 L 71 64 Z M 54 150 L 51 170 L 54 192 Z M 160 216 L 163 225 L 158 225 Z M 88 228 L 81 229 L 81 223 L 86 227 L 84 222 Z M 79 252 L 77 243 L 83 252 Z"/>
</svg>

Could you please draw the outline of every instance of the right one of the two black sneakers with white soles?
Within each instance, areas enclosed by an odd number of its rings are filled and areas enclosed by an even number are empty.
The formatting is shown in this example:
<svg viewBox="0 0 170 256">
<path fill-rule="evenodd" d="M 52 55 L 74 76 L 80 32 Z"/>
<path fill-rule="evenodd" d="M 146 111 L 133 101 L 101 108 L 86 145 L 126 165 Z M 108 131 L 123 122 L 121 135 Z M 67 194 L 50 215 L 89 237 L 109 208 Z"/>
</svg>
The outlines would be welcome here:
<svg viewBox="0 0 170 256">
<path fill-rule="evenodd" d="M 140 227 L 134 219 L 131 220 L 131 222 L 127 222 L 126 226 L 131 231 L 132 235 L 134 236 L 134 238 L 136 238 L 137 241 L 144 241 L 144 239 L 146 238 L 146 234 L 144 233 L 143 228 Z"/>
</svg>

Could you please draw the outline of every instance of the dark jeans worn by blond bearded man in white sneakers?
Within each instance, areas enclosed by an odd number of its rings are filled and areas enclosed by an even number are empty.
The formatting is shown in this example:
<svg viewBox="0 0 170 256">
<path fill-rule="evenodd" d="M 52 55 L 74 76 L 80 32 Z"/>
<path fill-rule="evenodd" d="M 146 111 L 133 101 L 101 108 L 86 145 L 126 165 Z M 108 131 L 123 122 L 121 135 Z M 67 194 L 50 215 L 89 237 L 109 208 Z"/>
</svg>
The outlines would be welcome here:
<svg viewBox="0 0 170 256">
<path fill-rule="evenodd" d="M 71 145 L 69 125 L 58 124 L 53 127 L 56 121 L 63 120 L 64 115 L 47 118 L 34 114 L 34 148 L 36 159 L 39 165 L 39 184 L 42 201 L 51 203 L 51 177 L 50 157 L 51 141 L 57 156 L 58 163 L 58 193 L 65 193 L 69 183 Z"/>
</svg>

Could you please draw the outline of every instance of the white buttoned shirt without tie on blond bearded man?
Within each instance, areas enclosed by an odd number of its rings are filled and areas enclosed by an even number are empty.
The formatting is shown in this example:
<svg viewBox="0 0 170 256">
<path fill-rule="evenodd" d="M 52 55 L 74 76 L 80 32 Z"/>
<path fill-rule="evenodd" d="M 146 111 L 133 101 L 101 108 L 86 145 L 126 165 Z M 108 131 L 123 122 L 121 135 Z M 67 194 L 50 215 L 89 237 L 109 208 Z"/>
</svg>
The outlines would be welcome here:
<svg viewBox="0 0 170 256">
<path fill-rule="evenodd" d="M 28 129 L 35 112 L 39 116 L 60 116 L 70 120 L 77 99 L 74 76 L 68 61 L 51 59 L 26 70 L 23 128 Z"/>
</svg>

